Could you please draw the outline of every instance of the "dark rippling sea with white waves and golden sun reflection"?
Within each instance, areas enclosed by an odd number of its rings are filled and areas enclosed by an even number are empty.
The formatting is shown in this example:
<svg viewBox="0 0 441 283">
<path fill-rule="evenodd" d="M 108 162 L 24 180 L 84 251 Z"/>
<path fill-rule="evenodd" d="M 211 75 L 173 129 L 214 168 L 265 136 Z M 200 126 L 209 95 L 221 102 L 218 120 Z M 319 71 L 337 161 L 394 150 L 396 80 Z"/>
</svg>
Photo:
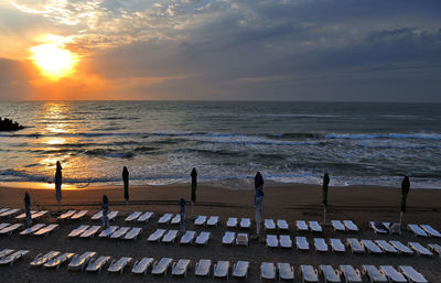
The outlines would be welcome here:
<svg viewBox="0 0 441 283">
<path fill-rule="evenodd" d="M 441 189 L 441 105 L 268 101 L 0 102 L 26 128 L 0 132 L 0 182 L 52 183 L 55 163 L 76 187 L 198 182 Z"/>
</svg>

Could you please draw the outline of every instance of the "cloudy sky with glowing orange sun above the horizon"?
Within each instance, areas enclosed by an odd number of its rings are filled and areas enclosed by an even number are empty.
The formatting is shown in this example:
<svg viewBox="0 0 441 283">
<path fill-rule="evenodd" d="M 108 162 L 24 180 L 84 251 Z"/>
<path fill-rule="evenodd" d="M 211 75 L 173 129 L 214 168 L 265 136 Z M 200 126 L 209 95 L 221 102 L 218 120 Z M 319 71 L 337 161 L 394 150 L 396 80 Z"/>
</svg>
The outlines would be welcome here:
<svg viewBox="0 0 441 283">
<path fill-rule="evenodd" d="M 0 100 L 441 102 L 440 0 L 0 0 Z"/>
</svg>

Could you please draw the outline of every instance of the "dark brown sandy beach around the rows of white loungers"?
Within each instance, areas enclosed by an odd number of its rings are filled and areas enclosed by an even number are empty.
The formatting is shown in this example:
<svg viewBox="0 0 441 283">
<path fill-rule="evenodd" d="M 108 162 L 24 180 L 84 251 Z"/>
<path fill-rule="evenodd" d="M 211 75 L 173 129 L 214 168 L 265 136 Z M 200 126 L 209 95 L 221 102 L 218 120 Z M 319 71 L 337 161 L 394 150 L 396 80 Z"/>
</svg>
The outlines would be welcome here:
<svg viewBox="0 0 441 283">
<path fill-rule="evenodd" d="M 10 188 L 0 187 L 0 207 L 23 207 L 24 192 L 29 192 L 32 198 L 32 209 L 49 209 L 51 215 L 42 222 L 56 222 L 55 193 L 52 189 Z M 232 265 L 238 260 L 250 262 L 249 282 L 259 282 L 260 262 L 289 262 L 297 269 L 295 276 L 299 279 L 299 265 L 352 264 L 358 269 L 363 264 L 391 264 L 412 265 L 421 272 L 430 282 L 441 282 L 441 270 L 439 269 L 440 258 L 438 255 L 423 258 L 420 255 L 373 255 L 352 254 L 346 251 L 343 254 L 333 252 L 316 253 L 311 249 L 308 252 L 299 252 L 294 248 L 268 249 L 265 248 L 265 231 L 260 240 L 250 241 L 249 247 L 223 247 L 222 236 L 228 217 L 250 217 L 254 219 L 254 192 L 252 191 L 229 191 L 200 185 L 197 202 L 194 207 L 195 215 L 218 215 L 220 218 L 217 228 L 193 226 L 191 219 L 186 220 L 187 229 L 196 231 L 207 230 L 212 232 L 212 239 L 207 247 L 181 247 L 179 242 L 173 244 L 160 244 L 147 242 L 147 238 L 158 228 L 158 218 L 163 213 L 179 213 L 179 199 L 190 199 L 190 185 L 159 186 L 159 187 L 131 187 L 129 211 L 126 210 L 122 187 L 88 187 L 85 189 L 72 189 L 63 192 L 63 211 L 68 209 L 88 209 L 90 215 L 100 209 L 103 194 L 109 197 L 110 210 L 119 210 L 115 221 L 118 226 L 142 227 L 143 231 L 136 241 L 122 241 L 111 239 L 68 239 L 67 233 L 79 226 L 79 224 L 94 224 L 87 217 L 83 221 L 63 221 L 61 229 L 49 237 L 22 237 L 18 233 L 11 237 L 3 236 L 0 241 L 0 249 L 29 249 L 31 252 L 13 266 L 0 266 L 1 282 L 172 282 L 170 275 L 154 277 L 148 274 L 144 277 L 130 275 L 114 275 L 101 272 L 100 274 L 86 274 L 68 272 L 67 266 L 58 271 L 31 269 L 29 262 L 37 253 L 45 253 L 51 250 L 72 251 L 83 253 L 85 251 L 97 251 L 98 254 L 107 254 L 112 258 L 122 255 L 132 257 L 139 260 L 143 257 L 152 257 L 155 260 L 162 257 L 170 257 L 175 260 L 186 258 L 192 260 L 187 279 L 183 282 L 195 282 L 194 264 L 200 259 L 229 260 Z M 398 188 L 389 187 L 332 187 L 329 194 L 329 208 L 326 219 L 352 219 L 358 225 L 361 231 L 357 233 L 335 232 L 331 226 L 324 226 L 323 233 L 302 233 L 295 230 L 294 222 L 299 219 L 323 221 L 323 209 L 321 205 L 321 187 L 314 185 L 275 185 L 265 188 L 263 215 L 262 218 L 286 219 L 290 226 L 291 238 L 302 235 L 308 237 L 311 248 L 314 237 L 341 238 L 348 237 L 358 239 L 397 239 L 402 242 L 418 241 L 423 246 L 428 243 L 441 243 L 437 238 L 416 238 L 410 231 L 404 231 L 401 236 L 375 235 L 368 227 L 369 220 L 397 221 L 399 219 Z M 408 211 L 404 217 L 405 224 L 429 224 L 441 230 L 441 191 L 412 189 L 408 196 Z M 147 224 L 127 224 L 123 221 L 126 215 L 131 211 L 153 211 L 155 216 Z M 190 215 L 191 207 L 186 206 L 186 214 Z M 0 219 L 1 222 L 15 222 L 13 218 Z M 99 224 L 99 222 L 96 222 Z M 173 229 L 173 226 L 164 226 L 164 229 Z M 176 229 L 176 228 L 174 228 Z M 234 229 L 240 231 L 240 229 Z M 254 233 L 252 225 L 250 233 Z M 277 232 L 279 233 L 279 232 Z M 217 282 L 214 279 L 197 279 L 197 282 Z M 230 279 L 229 281 L 235 281 Z M 367 277 L 364 276 L 364 282 Z"/>
</svg>

